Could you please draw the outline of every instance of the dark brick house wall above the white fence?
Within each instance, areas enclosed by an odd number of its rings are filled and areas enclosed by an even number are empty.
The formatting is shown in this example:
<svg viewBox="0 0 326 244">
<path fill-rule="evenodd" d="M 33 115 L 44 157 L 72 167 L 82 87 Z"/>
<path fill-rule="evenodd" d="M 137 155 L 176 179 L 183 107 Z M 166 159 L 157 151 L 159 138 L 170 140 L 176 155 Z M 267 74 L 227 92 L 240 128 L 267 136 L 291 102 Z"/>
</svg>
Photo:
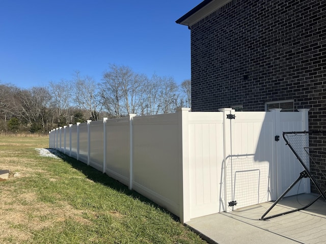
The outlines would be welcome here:
<svg viewBox="0 0 326 244">
<path fill-rule="evenodd" d="M 232 0 L 190 28 L 193 111 L 290 99 L 326 130 L 326 0 Z"/>
</svg>

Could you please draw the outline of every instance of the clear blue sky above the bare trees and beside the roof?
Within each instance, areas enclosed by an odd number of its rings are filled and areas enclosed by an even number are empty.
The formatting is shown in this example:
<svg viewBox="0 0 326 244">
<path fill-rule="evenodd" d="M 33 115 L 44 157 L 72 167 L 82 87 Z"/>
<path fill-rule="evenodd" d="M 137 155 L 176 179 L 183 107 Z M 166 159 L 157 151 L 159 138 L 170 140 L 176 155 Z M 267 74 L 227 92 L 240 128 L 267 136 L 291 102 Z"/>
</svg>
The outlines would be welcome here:
<svg viewBox="0 0 326 244">
<path fill-rule="evenodd" d="M 0 82 L 21 88 L 101 82 L 109 64 L 191 78 L 190 31 L 175 21 L 202 0 L 0 0 Z"/>
</svg>

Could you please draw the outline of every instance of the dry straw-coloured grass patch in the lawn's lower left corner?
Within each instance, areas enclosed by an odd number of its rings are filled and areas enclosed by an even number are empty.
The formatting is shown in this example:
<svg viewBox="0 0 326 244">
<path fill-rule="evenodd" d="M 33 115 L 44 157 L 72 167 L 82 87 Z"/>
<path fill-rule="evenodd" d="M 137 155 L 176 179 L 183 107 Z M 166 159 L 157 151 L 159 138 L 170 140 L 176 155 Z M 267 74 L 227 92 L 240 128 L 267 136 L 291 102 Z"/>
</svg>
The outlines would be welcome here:
<svg viewBox="0 0 326 244">
<path fill-rule="evenodd" d="M 59 201 L 56 204 L 40 202 L 34 192 L 17 194 L 15 188 L 2 190 L 0 201 L 0 234 L 4 239 L 13 236 L 20 241 L 31 240 L 35 231 L 61 225 L 65 221 L 74 221 L 82 225 L 92 225 L 85 219 L 85 210 L 78 210 L 69 203 Z M 60 198 L 60 196 L 58 196 Z M 94 215 L 88 211 L 88 216 Z"/>
</svg>

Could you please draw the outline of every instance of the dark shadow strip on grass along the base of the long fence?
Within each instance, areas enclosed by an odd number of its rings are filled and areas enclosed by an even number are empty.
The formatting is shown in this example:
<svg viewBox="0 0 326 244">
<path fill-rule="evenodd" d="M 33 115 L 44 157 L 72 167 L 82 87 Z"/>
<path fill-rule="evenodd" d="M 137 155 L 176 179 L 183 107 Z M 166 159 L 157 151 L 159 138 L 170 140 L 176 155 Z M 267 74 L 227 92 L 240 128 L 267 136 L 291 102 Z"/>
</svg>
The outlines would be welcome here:
<svg viewBox="0 0 326 244">
<path fill-rule="evenodd" d="M 64 162 L 71 165 L 74 169 L 82 172 L 88 179 L 97 182 L 103 186 L 109 187 L 119 193 L 123 193 L 127 196 L 132 197 L 135 200 L 140 200 L 148 205 L 154 206 L 155 208 L 159 209 L 162 212 L 165 212 L 166 214 L 169 214 L 175 221 L 180 221 L 179 217 L 172 214 L 172 212 L 168 211 L 167 209 L 157 205 L 153 201 L 149 200 L 148 198 L 144 197 L 143 195 L 139 194 L 138 192 L 135 192 L 133 190 L 129 190 L 129 188 L 125 185 L 123 185 L 120 181 L 108 176 L 105 173 L 102 173 L 98 171 L 97 169 L 78 161 L 74 158 L 69 157 L 66 154 L 61 153 L 61 151 L 46 148 L 49 151 L 56 151 L 55 155 L 59 158 L 61 158 Z"/>
</svg>

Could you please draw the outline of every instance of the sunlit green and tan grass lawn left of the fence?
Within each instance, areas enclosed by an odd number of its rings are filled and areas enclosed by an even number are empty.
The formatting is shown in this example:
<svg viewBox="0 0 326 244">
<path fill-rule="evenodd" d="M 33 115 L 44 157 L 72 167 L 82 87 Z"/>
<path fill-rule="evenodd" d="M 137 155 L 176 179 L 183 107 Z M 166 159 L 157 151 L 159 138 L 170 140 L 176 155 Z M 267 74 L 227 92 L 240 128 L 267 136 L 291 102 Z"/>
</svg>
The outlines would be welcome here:
<svg viewBox="0 0 326 244">
<path fill-rule="evenodd" d="M 10 170 L 0 181 L 0 243 L 206 243 L 105 174 L 35 150 L 46 147 L 47 137 L 0 136 L 0 169 Z"/>
</svg>

